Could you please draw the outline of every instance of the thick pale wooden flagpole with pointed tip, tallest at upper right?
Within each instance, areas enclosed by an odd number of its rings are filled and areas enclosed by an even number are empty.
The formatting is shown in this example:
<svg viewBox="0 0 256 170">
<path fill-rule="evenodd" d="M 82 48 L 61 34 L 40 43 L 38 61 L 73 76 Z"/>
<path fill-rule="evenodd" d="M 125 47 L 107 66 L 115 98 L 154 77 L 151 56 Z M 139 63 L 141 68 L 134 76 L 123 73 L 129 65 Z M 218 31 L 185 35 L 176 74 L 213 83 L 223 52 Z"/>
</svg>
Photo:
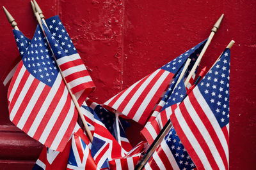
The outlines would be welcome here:
<svg viewBox="0 0 256 170">
<path fill-rule="evenodd" d="M 205 43 L 205 45 L 204 45 L 204 48 L 202 49 L 200 55 L 199 55 L 198 58 L 196 59 L 196 62 L 195 62 L 195 64 L 194 64 L 194 66 L 192 67 L 192 69 L 191 69 L 191 71 L 190 71 L 190 73 L 189 73 L 189 75 L 188 75 L 188 78 L 187 78 L 186 81 L 185 81 L 185 87 L 188 85 L 190 78 L 191 78 L 191 77 L 193 76 L 193 74 L 195 73 L 196 67 L 197 67 L 198 64 L 200 63 L 200 61 L 201 61 L 201 59 L 202 59 L 202 57 L 203 57 L 205 51 L 207 50 L 209 44 L 211 43 L 214 34 L 218 31 L 223 17 L 224 17 L 224 14 L 222 14 L 221 17 L 220 17 L 220 18 L 217 20 L 217 22 L 214 24 L 214 26 L 213 26 L 213 28 L 212 28 L 212 30 L 211 30 L 211 34 L 210 34 L 209 38 L 207 39 L 207 41 L 206 41 L 206 43 Z"/>
</svg>

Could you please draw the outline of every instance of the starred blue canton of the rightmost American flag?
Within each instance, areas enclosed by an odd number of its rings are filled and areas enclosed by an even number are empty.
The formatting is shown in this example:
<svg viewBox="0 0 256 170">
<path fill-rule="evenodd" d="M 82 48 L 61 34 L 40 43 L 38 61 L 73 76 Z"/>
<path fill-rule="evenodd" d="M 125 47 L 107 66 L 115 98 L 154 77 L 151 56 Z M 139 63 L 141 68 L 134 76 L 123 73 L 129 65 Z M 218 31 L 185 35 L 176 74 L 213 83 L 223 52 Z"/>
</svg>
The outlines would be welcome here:
<svg viewBox="0 0 256 170">
<path fill-rule="evenodd" d="M 229 123 L 229 73 L 230 50 L 227 48 L 198 86 L 221 128 Z"/>
</svg>

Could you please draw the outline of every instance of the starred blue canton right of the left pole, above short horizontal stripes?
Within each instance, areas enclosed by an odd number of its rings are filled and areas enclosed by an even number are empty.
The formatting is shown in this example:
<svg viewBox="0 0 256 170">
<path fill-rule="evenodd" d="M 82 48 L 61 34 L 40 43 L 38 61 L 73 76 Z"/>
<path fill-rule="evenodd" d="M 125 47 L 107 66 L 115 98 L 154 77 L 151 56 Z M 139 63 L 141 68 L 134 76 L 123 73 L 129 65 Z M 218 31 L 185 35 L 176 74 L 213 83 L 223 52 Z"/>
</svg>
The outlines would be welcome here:
<svg viewBox="0 0 256 170">
<path fill-rule="evenodd" d="M 55 39 L 57 41 L 56 45 L 60 45 L 59 48 L 61 48 L 63 52 L 65 52 L 65 55 L 72 55 L 74 53 L 77 53 L 77 50 L 72 43 L 72 40 L 68 36 L 68 33 L 58 16 L 48 18 L 47 20 L 45 20 L 45 22 L 48 25 L 49 30 L 51 31 L 51 39 Z M 51 39 L 49 39 L 49 41 L 51 41 Z M 60 52 L 57 52 L 57 54 L 60 54 Z M 56 58 L 59 59 L 60 57 L 63 57 L 63 55 L 64 54 L 56 55 Z"/>
</svg>

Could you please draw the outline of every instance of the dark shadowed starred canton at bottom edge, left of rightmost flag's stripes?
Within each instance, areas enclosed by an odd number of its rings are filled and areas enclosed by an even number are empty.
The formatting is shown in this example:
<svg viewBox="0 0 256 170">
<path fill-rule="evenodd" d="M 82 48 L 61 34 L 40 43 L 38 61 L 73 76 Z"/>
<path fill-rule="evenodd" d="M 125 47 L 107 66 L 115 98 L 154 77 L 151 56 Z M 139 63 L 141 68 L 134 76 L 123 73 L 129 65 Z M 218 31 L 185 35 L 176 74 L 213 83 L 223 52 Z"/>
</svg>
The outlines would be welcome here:
<svg viewBox="0 0 256 170">
<path fill-rule="evenodd" d="M 188 152 L 182 145 L 179 136 L 175 132 L 174 128 L 165 136 L 164 141 L 170 148 L 174 159 L 176 160 L 180 169 L 194 169 L 195 164 L 189 157 Z"/>
</svg>

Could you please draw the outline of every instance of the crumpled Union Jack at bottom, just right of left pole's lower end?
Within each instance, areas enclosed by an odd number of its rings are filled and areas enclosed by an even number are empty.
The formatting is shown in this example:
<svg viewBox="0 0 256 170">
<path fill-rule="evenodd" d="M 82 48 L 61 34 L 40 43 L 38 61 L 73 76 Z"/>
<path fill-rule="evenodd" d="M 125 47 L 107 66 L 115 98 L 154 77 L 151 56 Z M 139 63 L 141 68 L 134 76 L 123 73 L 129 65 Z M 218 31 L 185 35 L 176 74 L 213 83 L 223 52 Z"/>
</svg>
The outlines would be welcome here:
<svg viewBox="0 0 256 170">
<path fill-rule="evenodd" d="M 85 103 L 83 106 L 86 105 Z M 86 108 L 86 107 L 83 107 Z M 87 107 L 89 108 L 89 107 Z M 116 141 L 105 125 L 101 122 L 95 111 L 86 110 L 83 112 L 84 117 L 90 118 L 93 115 L 93 141 L 92 141 L 92 157 L 99 168 L 106 168 L 108 160 L 124 157 L 127 153 L 122 146 Z"/>
</svg>

